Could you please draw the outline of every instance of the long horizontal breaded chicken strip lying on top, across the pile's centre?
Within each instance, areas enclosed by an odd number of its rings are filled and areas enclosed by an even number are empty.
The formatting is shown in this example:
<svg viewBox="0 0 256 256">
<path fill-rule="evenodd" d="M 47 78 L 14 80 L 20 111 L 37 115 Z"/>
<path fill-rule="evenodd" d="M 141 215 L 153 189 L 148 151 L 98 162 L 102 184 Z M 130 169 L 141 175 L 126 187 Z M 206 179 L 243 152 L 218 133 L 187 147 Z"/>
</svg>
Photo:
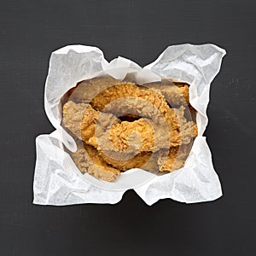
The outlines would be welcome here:
<svg viewBox="0 0 256 256">
<path fill-rule="evenodd" d="M 155 152 L 160 148 L 188 144 L 197 136 L 197 126 L 193 121 L 188 122 L 183 114 L 183 106 L 169 108 L 166 123 L 161 125 L 143 118 L 133 122 L 123 121 L 112 125 L 110 131 L 101 133 L 99 137 L 90 137 L 88 143 L 98 150 L 125 150 L 126 153 Z"/>
</svg>

